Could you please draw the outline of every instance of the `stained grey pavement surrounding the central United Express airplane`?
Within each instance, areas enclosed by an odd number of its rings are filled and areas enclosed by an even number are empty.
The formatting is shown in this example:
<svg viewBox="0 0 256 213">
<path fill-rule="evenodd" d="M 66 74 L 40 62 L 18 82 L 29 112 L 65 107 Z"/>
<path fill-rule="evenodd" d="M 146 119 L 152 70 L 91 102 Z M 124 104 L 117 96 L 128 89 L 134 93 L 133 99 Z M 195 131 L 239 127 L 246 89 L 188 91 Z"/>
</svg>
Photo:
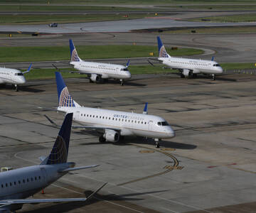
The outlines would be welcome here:
<svg viewBox="0 0 256 213">
<path fill-rule="evenodd" d="M 108 185 L 88 203 L 25 205 L 19 212 L 255 212 L 255 81 L 238 74 L 215 81 L 157 75 L 124 87 L 66 80 L 86 107 L 141 112 L 149 102 L 149 114 L 163 116 L 176 137 L 156 149 L 144 138 L 101 144 L 75 130 L 69 160 L 100 166 L 65 175 L 35 197 L 82 197 Z M 38 107 L 57 105 L 55 87 L 46 80 L 28 82 L 20 92 L 0 88 L 1 166 L 33 165 L 50 152 L 58 129 L 43 114 L 58 124 L 64 116 Z"/>
</svg>

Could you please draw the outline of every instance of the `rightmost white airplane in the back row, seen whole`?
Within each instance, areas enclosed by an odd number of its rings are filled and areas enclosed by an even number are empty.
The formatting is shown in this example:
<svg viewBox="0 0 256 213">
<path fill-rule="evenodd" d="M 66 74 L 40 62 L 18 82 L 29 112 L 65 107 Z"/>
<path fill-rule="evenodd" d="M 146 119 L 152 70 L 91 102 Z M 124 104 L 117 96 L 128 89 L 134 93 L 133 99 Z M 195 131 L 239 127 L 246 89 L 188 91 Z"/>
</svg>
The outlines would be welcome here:
<svg viewBox="0 0 256 213">
<path fill-rule="evenodd" d="M 181 72 L 181 77 L 196 77 L 197 74 L 203 73 L 205 75 L 211 75 L 212 79 L 215 80 L 216 74 L 223 73 L 222 67 L 212 60 L 197 60 L 191 58 L 174 58 L 171 57 L 166 52 L 161 38 L 157 36 L 158 49 L 159 49 L 159 58 L 149 58 L 149 60 L 158 60 L 164 65 L 167 65 L 168 68 L 179 70 Z M 149 63 L 153 65 L 150 61 Z"/>
</svg>

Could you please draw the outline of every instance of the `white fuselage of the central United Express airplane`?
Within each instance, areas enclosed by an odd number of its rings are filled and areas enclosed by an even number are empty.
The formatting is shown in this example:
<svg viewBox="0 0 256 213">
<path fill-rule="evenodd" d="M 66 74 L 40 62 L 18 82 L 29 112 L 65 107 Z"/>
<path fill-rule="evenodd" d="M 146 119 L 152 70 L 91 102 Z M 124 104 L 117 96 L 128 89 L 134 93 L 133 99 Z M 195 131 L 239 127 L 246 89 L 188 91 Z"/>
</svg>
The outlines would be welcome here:
<svg viewBox="0 0 256 213">
<path fill-rule="evenodd" d="M 60 111 L 73 112 L 73 119 L 88 126 L 105 126 L 120 129 L 120 136 L 172 138 L 174 130 L 161 117 L 89 107 L 58 107 Z"/>
</svg>

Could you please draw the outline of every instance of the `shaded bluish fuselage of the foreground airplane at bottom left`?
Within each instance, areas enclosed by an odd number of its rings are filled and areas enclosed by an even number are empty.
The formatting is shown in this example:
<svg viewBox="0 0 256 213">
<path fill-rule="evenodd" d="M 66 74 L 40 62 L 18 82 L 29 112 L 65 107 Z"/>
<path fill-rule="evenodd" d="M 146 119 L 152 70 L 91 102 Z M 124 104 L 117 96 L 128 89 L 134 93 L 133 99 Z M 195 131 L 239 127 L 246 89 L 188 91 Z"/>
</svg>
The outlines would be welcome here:
<svg viewBox="0 0 256 213">
<path fill-rule="evenodd" d="M 58 173 L 59 170 L 74 165 L 74 163 L 33 165 L 0 173 L 0 201 L 30 197 L 66 174 Z M 11 209 L 21 207 L 22 205 L 14 204 Z"/>
</svg>

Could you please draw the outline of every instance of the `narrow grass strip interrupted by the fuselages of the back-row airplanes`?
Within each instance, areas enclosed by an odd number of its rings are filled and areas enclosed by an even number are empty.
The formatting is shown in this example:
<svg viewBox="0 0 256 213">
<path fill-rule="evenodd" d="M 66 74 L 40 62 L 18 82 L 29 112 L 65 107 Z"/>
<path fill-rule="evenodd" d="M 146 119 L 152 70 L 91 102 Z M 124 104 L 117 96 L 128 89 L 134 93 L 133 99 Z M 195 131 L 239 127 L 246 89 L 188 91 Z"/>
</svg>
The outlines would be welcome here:
<svg viewBox="0 0 256 213">
<path fill-rule="evenodd" d="M 245 70 L 255 68 L 254 63 L 222 63 L 220 64 L 224 70 Z M 178 72 L 178 70 L 163 69 L 163 65 L 156 65 L 152 67 L 151 65 L 131 65 L 129 66 L 129 72 L 132 75 L 142 75 L 142 74 L 161 74 Z M 60 70 L 72 70 L 72 69 L 60 69 Z M 26 74 L 26 80 L 46 80 L 55 78 L 55 69 L 33 69 L 31 72 Z M 79 75 L 69 72 L 62 72 L 64 78 L 68 77 L 87 77 L 87 75 Z"/>
</svg>

